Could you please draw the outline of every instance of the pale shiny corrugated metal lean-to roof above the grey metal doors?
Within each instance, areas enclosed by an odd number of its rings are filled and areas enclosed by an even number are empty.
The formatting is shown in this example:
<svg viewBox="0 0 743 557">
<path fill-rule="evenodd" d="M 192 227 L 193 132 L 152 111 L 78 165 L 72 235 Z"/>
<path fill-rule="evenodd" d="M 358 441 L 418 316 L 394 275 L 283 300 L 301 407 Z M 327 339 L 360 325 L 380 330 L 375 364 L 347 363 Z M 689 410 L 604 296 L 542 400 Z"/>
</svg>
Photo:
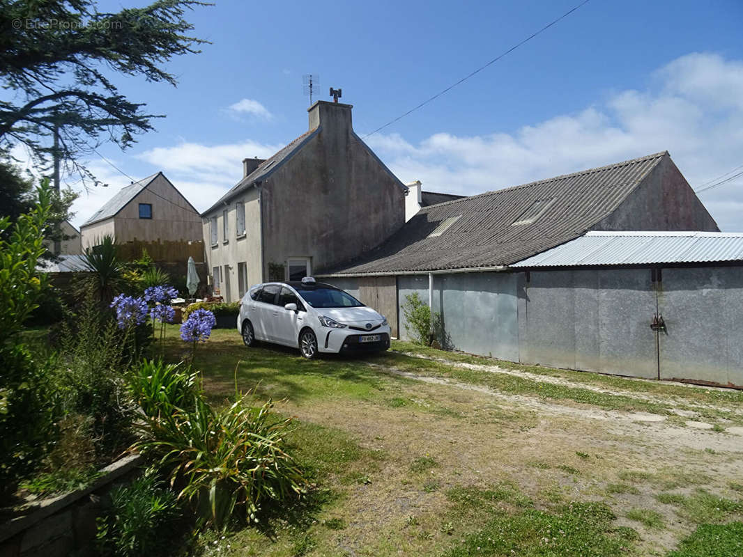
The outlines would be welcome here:
<svg viewBox="0 0 743 557">
<path fill-rule="evenodd" d="M 511 267 L 743 261 L 743 232 L 587 232 Z"/>
</svg>

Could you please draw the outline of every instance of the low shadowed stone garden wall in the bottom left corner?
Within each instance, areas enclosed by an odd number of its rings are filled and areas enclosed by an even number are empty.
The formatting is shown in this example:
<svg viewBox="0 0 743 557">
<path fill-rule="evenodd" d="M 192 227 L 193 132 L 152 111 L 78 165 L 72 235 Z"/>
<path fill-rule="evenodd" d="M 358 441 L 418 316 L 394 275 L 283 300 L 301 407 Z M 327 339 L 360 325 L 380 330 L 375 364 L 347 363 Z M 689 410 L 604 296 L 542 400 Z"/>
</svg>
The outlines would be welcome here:
<svg viewBox="0 0 743 557">
<path fill-rule="evenodd" d="M 136 475 L 142 462 L 140 455 L 117 460 L 85 489 L 38 501 L 27 514 L 1 524 L 0 557 L 94 555 L 96 518 L 108 492 Z"/>
</svg>

